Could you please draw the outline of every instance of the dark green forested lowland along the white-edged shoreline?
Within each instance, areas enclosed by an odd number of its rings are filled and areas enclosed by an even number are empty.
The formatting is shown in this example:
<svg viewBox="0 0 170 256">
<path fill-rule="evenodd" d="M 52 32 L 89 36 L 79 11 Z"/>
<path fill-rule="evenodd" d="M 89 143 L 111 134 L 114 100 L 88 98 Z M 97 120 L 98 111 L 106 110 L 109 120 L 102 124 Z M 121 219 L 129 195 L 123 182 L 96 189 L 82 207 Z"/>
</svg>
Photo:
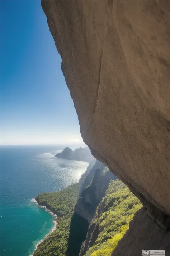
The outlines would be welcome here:
<svg viewBox="0 0 170 256">
<path fill-rule="evenodd" d="M 71 218 L 78 199 L 80 184 L 74 184 L 59 192 L 41 193 L 36 200 L 40 205 L 48 205 L 57 213 L 57 229 L 38 245 L 34 256 L 65 256 Z"/>
</svg>

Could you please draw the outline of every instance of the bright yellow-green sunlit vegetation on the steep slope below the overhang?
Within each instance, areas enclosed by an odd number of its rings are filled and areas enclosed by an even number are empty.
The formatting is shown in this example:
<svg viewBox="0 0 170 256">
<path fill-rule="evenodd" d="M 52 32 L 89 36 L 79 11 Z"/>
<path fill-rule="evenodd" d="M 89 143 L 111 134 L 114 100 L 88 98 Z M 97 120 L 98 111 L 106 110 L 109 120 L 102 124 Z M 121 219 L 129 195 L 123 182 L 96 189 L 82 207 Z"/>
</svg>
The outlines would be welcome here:
<svg viewBox="0 0 170 256">
<path fill-rule="evenodd" d="M 129 222 L 140 201 L 119 180 L 109 183 L 105 196 L 96 209 L 93 223 L 99 226 L 95 243 L 85 256 L 111 256 L 114 248 L 129 228 Z M 101 212 L 98 215 L 98 212 Z"/>
</svg>

